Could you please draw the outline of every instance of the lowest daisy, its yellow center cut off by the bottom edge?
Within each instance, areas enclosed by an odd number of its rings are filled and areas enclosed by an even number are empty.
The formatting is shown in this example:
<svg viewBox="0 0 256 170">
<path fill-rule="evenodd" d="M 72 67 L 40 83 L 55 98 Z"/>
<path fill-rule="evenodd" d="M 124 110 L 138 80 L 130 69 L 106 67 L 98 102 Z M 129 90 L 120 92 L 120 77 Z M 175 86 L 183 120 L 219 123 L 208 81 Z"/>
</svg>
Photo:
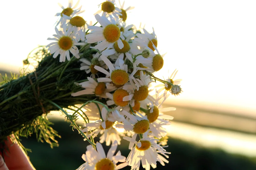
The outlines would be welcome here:
<svg viewBox="0 0 256 170">
<path fill-rule="evenodd" d="M 86 147 L 87 151 L 82 155 L 82 159 L 86 161 L 86 163 L 82 164 L 78 169 L 79 170 L 117 170 L 127 166 L 125 162 L 125 156 L 121 155 L 121 152 L 116 152 L 118 146 L 118 142 L 115 141 L 112 143 L 111 148 L 109 149 L 107 155 L 101 145 L 101 143 L 96 143 L 96 149 L 94 150 L 92 145 L 88 145 Z M 116 165 L 118 162 L 124 162 L 119 165 Z"/>
</svg>

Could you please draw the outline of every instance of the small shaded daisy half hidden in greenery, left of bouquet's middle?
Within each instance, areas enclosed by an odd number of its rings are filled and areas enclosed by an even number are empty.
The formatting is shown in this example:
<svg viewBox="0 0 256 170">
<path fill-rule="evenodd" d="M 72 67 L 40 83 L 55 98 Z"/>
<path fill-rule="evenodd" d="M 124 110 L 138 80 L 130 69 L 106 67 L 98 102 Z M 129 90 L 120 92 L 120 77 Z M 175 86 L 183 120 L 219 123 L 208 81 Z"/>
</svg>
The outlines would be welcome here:
<svg viewBox="0 0 256 170">
<path fill-rule="evenodd" d="M 99 67 L 105 67 L 105 63 L 103 61 L 100 61 L 101 58 L 99 58 L 100 56 L 100 53 L 96 53 L 96 54 L 93 54 L 92 55 L 93 58 L 91 61 L 89 61 L 88 59 L 85 59 L 85 58 L 81 58 L 80 61 L 82 62 L 81 63 L 81 67 L 80 67 L 80 70 L 84 70 L 87 74 L 89 74 L 91 72 L 91 77 L 93 79 L 95 79 L 95 75 L 98 76 L 98 70 L 94 69 L 94 66 L 99 66 Z"/>
</svg>

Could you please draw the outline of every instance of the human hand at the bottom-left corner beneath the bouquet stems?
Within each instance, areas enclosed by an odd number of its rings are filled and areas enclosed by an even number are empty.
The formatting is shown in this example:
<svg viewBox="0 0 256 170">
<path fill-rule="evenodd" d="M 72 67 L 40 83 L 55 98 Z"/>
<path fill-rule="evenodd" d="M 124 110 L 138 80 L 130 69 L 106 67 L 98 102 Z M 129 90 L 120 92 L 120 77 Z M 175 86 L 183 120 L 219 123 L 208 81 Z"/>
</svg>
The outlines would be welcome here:
<svg viewBox="0 0 256 170">
<path fill-rule="evenodd" d="M 0 170 L 35 170 L 24 151 L 9 137 L 6 145 L 9 151 L 3 155 L 0 153 Z"/>
</svg>

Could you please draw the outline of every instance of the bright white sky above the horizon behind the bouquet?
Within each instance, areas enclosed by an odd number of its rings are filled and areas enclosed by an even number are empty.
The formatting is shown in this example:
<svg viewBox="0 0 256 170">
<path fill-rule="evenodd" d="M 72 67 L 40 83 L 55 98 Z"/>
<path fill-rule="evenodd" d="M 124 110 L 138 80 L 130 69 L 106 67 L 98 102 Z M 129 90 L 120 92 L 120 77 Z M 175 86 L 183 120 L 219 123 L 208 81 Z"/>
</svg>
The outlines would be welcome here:
<svg viewBox="0 0 256 170">
<path fill-rule="evenodd" d="M 0 67 L 22 67 L 22 61 L 37 45 L 51 41 L 57 3 L 68 0 L 4 1 L 2 4 L 2 44 Z M 74 1 L 75 4 L 77 1 Z M 93 21 L 103 0 L 81 0 L 82 17 Z M 118 1 L 117 1 L 118 2 Z M 123 2 L 123 1 L 121 1 Z M 129 0 L 125 8 L 135 6 L 127 22 L 154 27 L 158 49 L 164 57 L 159 77 L 179 72 L 184 93 L 172 101 L 203 101 L 256 110 L 256 1 L 166 1 Z M 119 3 L 118 3 L 119 5 Z"/>
</svg>

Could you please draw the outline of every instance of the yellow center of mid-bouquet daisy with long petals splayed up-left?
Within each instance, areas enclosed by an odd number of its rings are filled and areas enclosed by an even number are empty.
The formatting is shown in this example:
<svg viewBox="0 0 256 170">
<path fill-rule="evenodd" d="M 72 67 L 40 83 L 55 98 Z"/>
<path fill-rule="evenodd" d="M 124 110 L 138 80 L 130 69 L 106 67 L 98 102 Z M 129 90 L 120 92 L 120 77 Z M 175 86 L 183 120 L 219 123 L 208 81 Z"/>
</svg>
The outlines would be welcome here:
<svg viewBox="0 0 256 170">
<path fill-rule="evenodd" d="M 124 85 L 129 81 L 129 75 L 124 70 L 114 70 L 111 73 L 111 80 L 116 85 Z"/>
</svg>

